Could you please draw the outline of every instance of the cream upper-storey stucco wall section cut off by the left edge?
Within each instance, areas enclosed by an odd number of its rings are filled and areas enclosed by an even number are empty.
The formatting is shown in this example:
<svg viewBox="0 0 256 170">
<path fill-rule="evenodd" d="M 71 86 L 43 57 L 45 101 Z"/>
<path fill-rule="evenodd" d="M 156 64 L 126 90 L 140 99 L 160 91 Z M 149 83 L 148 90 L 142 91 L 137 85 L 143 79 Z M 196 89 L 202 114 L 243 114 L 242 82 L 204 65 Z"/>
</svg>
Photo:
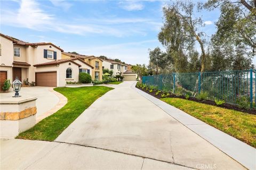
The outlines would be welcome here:
<svg viewBox="0 0 256 170">
<path fill-rule="evenodd" d="M 9 39 L 0 36 L 0 43 L 2 48 L 0 65 L 12 66 L 13 63 L 13 43 Z"/>
</svg>

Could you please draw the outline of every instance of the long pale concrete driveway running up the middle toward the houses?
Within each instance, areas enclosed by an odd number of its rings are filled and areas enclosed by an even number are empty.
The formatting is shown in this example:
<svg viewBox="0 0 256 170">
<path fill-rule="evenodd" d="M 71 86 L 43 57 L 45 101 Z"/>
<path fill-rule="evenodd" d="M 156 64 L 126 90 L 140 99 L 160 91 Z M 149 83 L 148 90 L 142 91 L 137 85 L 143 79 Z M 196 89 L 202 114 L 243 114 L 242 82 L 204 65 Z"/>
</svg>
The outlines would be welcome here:
<svg viewBox="0 0 256 170">
<path fill-rule="evenodd" d="M 196 169 L 244 169 L 138 94 L 131 88 L 134 83 L 113 86 L 114 90 L 96 100 L 55 141 Z"/>
</svg>

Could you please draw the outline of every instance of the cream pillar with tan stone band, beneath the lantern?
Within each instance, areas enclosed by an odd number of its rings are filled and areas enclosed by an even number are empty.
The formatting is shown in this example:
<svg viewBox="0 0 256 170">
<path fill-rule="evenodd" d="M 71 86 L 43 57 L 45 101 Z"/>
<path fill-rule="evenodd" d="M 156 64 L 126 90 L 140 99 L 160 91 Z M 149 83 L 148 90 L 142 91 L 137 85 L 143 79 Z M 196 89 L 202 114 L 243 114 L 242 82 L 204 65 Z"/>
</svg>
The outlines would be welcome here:
<svg viewBox="0 0 256 170">
<path fill-rule="evenodd" d="M 1 96 L 0 138 L 15 138 L 36 124 L 36 99 Z"/>
</svg>

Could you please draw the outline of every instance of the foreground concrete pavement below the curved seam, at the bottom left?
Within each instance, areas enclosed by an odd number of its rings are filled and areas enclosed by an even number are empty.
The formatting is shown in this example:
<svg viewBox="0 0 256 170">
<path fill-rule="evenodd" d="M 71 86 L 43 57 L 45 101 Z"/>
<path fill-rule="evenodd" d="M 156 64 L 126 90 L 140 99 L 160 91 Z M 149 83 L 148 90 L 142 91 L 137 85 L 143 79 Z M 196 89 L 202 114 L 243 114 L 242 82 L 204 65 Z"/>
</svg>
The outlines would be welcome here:
<svg viewBox="0 0 256 170">
<path fill-rule="evenodd" d="M 18 139 L 0 142 L 0 169 L 190 169 L 67 143 Z"/>
</svg>

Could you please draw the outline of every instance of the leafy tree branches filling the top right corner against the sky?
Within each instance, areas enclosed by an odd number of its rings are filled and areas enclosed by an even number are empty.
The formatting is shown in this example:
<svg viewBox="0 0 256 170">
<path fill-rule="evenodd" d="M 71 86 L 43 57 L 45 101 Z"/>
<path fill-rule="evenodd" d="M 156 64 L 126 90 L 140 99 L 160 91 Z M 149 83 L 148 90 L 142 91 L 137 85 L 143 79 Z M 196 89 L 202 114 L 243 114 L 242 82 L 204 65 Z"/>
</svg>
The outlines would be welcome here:
<svg viewBox="0 0 256 170">
<path fill-rule="evenodd" d="M 209 0 L 201 7 L 208 10 L 220 8 L 215 34 L 220 43 L 244 44 L 256 53 L 256 0 Z"/>
</svg>

